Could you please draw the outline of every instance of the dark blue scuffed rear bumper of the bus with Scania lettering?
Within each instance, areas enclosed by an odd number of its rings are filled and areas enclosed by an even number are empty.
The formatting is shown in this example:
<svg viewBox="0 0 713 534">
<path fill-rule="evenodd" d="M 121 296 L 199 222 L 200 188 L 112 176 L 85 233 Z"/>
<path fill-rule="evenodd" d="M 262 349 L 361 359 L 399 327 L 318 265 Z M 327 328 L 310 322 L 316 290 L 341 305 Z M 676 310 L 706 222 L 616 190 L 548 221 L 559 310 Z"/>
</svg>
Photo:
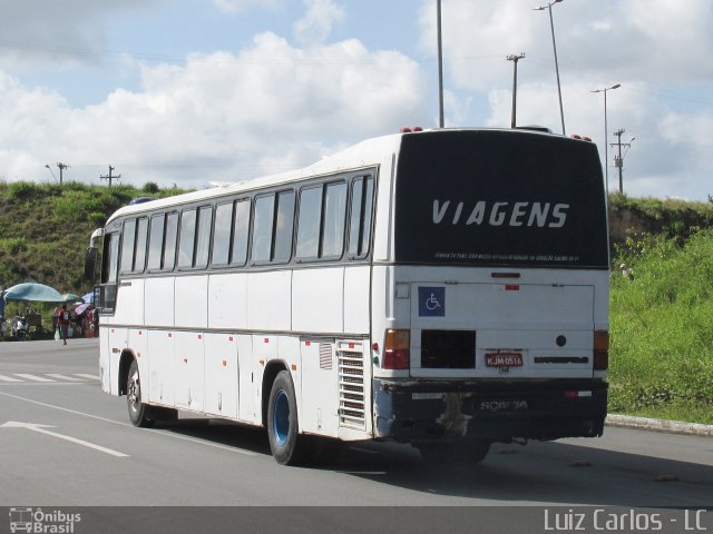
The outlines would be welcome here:
<svg viewBox="0 0 713 534">
<path fill-rule="evenodd" d="M 557 439 L 600 436 L 608 384 L 374 379 L 375 437 Z"/>
</svg>

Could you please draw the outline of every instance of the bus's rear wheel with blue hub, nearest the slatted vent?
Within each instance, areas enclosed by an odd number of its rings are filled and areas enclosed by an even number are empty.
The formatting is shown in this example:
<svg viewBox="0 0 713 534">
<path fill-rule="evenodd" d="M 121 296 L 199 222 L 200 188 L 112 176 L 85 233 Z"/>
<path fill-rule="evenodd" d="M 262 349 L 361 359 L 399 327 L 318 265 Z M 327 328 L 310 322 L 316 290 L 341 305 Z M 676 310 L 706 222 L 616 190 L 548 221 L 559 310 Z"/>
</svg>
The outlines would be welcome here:
<svg viewBox="0 0 713 534">
<path fill-rule="evenodd" d="M 279 464 L 297 465 L 306 458 L 309 447 L 300 436 L 294 384 L 286 370 L 277 373 L 270 390 L 267 437 L 272 455 Z"/>
</svg>

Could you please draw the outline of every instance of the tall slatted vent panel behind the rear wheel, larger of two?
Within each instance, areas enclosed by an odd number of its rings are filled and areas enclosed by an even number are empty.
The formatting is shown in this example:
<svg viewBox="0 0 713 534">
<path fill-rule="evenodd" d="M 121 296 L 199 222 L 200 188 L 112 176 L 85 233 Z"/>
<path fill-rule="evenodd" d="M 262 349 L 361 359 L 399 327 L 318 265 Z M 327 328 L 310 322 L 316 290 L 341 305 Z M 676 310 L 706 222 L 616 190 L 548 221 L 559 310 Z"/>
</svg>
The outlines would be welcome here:
<svg viewBox="0 0 713 534">
<path fill-rule="evenodd" d="M 352 348 L 353 347 L 353 348 Z M 364 397 L 364 356 L 361 345 L 340 344 L 339 358 L 339 425 L 367 429 Z"/>
</svg>

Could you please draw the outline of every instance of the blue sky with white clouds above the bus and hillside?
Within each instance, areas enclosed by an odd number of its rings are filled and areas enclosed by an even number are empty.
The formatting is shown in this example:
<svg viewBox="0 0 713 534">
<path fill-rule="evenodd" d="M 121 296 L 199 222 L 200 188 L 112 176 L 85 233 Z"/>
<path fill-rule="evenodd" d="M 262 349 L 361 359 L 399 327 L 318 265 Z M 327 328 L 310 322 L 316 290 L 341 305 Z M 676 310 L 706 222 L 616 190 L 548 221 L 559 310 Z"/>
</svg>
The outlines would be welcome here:
<svg viewBox="0 0 713 534">
<path fill-rule="evenodd" d="M 442 0 L 446 126 L 561 132 L 540 0 Z M 713 2 L 551 8 L 566 134 L 624 190 L 713 194 Z M 203 188 L 310 164 L 402 126 L 438 125 L 436 0 L 0 0 L 0 179 Z M 635 138 L 632 141 L 632 138 Z M 609 188 L 618 187 L 609 147 Z M 46 168 L 50 166 L 50 169 Z M 53 176 L 52 176 L 53 174 Z"/>
</svg>

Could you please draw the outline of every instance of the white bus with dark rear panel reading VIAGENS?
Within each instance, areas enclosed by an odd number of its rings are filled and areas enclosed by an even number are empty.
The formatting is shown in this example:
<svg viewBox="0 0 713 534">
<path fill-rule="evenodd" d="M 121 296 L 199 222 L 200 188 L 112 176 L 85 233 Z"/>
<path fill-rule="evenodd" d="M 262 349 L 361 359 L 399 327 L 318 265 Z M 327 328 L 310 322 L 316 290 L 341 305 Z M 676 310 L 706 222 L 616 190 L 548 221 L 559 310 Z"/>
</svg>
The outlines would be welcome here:
<svg viewBox="0 0 713 534">
<path fill-rule="evenodd" d="M 101 387 L 137 426 L 178 409 L 263 426 L 281 464 L 335 441 L 480 461 L 603 432 L 608 231 L 587 140 L 401 132 L 124 207 L 99 236 Z"/>
</svg>

